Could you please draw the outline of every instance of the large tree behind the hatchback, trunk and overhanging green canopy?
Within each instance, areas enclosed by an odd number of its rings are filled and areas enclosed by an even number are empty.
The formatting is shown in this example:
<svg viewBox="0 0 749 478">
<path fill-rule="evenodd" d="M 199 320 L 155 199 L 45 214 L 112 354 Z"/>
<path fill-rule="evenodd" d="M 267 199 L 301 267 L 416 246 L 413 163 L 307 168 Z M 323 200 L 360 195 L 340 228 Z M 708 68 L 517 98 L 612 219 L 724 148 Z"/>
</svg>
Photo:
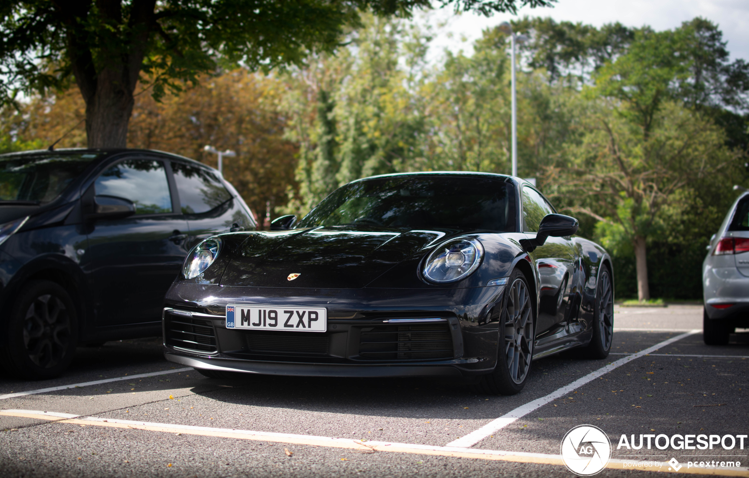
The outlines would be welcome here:
<svg viewBox="0 0 749 478">
<path fill-rule="evenodd" d="M 442 0 L 487 15 L 553 0 Z M 75 79 L 89 147 L 124 147 L 136 85 L 155 98 L 202 73 L 243 64 L 251 71 L 301 64 L 333 52 L 360 10 L 408 16 L 428 0 L 2 0 L 0 101 L 44 93 Z"/>
</svg>

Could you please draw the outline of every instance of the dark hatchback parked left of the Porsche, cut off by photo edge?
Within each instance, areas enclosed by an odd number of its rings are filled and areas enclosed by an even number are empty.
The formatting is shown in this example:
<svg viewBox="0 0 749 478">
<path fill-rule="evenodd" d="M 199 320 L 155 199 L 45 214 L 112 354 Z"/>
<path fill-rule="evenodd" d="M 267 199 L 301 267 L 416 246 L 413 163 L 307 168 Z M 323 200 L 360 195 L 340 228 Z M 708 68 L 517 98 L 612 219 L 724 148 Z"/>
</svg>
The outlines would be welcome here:
<svg viewBox="0 0 749 478">
<path fill-rule="evenodd" d="M 213 168 L 151 150 L 0 155 L 0 364 L 62 373 L 76 345 L 161 334 L 193 245 L 254 230 Z"/>
</svg>

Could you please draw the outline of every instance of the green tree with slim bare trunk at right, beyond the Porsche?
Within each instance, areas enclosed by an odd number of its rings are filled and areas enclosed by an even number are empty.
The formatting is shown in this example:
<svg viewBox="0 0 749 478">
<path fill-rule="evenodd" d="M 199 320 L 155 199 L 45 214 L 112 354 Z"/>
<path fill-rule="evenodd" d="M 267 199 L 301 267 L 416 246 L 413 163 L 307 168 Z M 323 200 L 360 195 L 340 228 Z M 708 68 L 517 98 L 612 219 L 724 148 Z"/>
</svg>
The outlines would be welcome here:
<svg viewBox="0 0 749 478">
<path fill-rule="evenodd" d="M 615 254 L 634 252 L 637 297 L 648 300 L 649 240 L 678 224 L 700 189 L 727 180 L 734 156 L 718 126 L 679 102 L 648 115 L 646 130 L 610 102 L 589 111 L 568 147 L 574 179 L 566 178 L 583 205 L 568 210 L 598 219 L 597 236 Z"/>
</svg>

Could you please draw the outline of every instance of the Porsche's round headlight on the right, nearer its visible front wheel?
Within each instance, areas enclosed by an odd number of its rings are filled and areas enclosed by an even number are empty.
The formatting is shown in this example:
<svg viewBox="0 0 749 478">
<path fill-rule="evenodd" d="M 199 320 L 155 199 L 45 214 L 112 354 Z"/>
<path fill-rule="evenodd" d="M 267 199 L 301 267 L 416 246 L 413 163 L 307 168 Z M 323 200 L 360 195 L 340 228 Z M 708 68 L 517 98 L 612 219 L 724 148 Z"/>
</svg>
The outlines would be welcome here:
<svg viewBox="0 0 749 478">
<path fill-rule="evenodd" d="M 481 264 L 484 246 L 473 237 L 456 237 L 434 248 L 424 265 L 424 277 L 432 282 L 467 278 Z"/>
</svg>

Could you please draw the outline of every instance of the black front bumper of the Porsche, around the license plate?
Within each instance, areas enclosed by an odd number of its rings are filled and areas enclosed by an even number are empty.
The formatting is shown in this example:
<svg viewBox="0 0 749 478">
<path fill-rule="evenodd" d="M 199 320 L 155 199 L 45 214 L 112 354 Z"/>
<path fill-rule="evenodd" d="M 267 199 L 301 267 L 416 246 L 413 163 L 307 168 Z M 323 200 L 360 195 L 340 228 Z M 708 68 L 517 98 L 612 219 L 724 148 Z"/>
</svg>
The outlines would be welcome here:
<svg viewBox="0 0 749 478">
<path fill-rule="evenodd" d="M 498 322 L 490 312 L 502 291 L 174 284 L 164 309 L 165 356 L 196 368 L 278 375 L 481 375 L 496 364 Z M 225 306 L 234 303 L 327 307 L 327 332 L 226 328 Z M 419 322 L 426 317 L 440 321 Z M 395 318 L 407 323 L 388 322 Z"/>
</svg>

